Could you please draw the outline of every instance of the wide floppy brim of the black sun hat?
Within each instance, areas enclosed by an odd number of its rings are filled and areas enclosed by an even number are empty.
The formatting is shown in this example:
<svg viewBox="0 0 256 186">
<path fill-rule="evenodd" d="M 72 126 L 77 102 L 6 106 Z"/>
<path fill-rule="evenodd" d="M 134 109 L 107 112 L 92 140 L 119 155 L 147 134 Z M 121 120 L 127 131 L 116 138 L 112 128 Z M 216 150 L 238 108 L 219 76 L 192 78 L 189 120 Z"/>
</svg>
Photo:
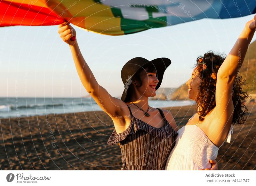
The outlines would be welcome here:
<svg viewBox="0 0 256 186">
<path fill-rule="evenodd" d="M 161 83 L 162 83 L 162 80 L 163 80 L 163 77 L 164 77 L 164 71 L 167 69 L 168 66 L 170 66 L 170 64 L 172 62 L 171 62 L 170 59 L 168 59 L 166 57 L 161 57 L 161 58 L 156 58 L 152 61 L 149 61 L 149 62 L 145 63 L 143 66 L 147 66 L 148 63 L 153 63 L 153 65 L 156 68 L 157 79 L 159 81 L 157 86 L 156 86 L 156 90 L 157 90 L 160 87 Z M 130 85 L 127 86 L 127 84 L 124 85 L 124 87 L 126 87 L 126 88 L 124 89 L 124 92 L 123 92 L 122 97 L 121 97 L 122 101 L 125 101 L 125 98 L 126 98 L 127 93 L 128 93 L 129 86 Z"/>
</svg>

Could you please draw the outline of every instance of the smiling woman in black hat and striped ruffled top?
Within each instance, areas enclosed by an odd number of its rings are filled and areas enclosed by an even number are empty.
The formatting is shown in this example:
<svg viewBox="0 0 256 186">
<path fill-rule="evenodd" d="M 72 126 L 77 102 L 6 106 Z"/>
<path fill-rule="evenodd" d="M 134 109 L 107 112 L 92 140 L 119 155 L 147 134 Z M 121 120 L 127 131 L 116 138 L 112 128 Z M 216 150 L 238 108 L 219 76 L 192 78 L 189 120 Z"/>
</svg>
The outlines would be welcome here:
<svg viewBox="0 0 256 186">
<path fill-rule="evenodd" d="M 177 135 L 172 114 L 148 105 L 148 97 L 155 96 L 164 71 L 171 64 L 168 58 L 149 61 L 136 57 L 128 61 L 122 71 L 124 92 L 121 100 L 112 97 L 94 78 L 76 41 L 76 31 L 64 23 L 58 30 L 69 44 L 76 70 L 85 89 L 113 120 L 115 129 L 108 145 L 120 142 L 122 170 L 164 170 Z M 215 166 L 216 169 L 216 166 Z"/>
</svg>

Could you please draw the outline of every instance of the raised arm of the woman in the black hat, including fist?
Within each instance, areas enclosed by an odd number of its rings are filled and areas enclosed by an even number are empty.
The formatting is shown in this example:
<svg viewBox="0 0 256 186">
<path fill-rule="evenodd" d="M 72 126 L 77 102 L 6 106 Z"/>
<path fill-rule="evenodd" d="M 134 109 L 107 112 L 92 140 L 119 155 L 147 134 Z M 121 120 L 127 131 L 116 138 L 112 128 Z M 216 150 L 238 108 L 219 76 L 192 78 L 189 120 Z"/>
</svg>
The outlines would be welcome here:
<svg viewBox="0 0 256 186">
<path fill-rule="evenodd" d="M 76 71 L 86 91 L 111 118 L 117 118 L 118 115 L 122 115 L 122 108 L 126 106 L 125 103 L 122 100 L 112 97 L 98 84 L 81 54 L 77 41 L 70 40 L 71 37 L 76 36 L 75 29 L 70 26 L 69 23 L 63 23 L 59 25 L 58 33 L 60 34 L 61 39 L 70 47 Z"/>
</svg>

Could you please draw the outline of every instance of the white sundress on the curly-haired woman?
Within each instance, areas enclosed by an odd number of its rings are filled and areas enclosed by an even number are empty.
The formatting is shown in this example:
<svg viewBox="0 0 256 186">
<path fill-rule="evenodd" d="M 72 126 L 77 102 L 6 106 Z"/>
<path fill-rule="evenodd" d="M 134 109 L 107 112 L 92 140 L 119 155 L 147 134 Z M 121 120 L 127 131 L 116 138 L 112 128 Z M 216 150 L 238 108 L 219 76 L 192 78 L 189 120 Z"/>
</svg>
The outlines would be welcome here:
<svg viewBox="0 0 256 186">
<path fill-rule="evenodd" d="M 166 162 L 165 170 L 200 170 L 212 167 L 209 160 L 217 158 L 219 147 L 212 143 L 197 124 L 185 125 L 178 130 L 175 146 Z M 228 143 L 232 133 L 233 124 L 228 133 Z"/>
</svg>

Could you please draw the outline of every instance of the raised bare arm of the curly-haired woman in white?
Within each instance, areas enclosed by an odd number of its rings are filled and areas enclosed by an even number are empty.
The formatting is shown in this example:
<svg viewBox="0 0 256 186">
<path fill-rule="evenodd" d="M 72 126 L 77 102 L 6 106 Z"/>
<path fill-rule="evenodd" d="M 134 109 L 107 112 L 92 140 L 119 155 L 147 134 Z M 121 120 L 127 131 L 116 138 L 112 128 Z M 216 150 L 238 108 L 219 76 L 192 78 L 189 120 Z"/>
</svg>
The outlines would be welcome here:
<svg viewBox="0 0 256 186">
<path fill-rule="evenodd" d="M 216 118 L 218 118 L 217 123 L 220 131 L 217 131 L 217 133 L 219 134 L 221 134 L 223 131 L 224 133 L 227 133 L 230 128 L 230 125 L 225 125 L 226 123 L 230 123 L 230 121 L 232 121 L 234 110 L 232 101 L 232 89 L 236 75 L 238 74 L 239 69 L 244 61 L 246 51 L 250 42 L 252 41 L 252 37 L 255 32 L 255 17 L 256 15 L 252 20 L 246 23 L 242 33 L 239 35 L 235 45 L 220 66 L 217 74 L 215 114 L 218 115 Z M 225 130 L 223 130 L 224 127 Z"/>
</svg>

